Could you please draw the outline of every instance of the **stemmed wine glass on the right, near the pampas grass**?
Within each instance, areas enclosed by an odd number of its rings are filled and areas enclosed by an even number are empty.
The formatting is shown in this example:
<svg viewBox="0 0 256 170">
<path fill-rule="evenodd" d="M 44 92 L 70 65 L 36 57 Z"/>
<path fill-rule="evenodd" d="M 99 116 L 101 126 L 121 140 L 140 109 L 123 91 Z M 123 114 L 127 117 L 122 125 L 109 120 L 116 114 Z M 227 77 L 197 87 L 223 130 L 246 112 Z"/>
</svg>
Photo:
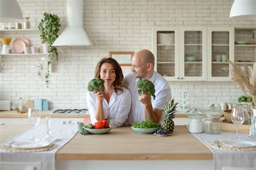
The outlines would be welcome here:
<svg viewBox="0 0 256 170">
<path fill-rule="evenodd" d="M 237 127 L 237 140 L 238 138 L 238 127 L 244 123 L 245 121 L 245 111 L 243 108 L 243 105 L 241 104 L 237 104 L 235 105 L 235 107 L 232 109 L 232 113 L 231 113 L 231 120 L 233 122 L 233 124 Z"/>
</svg>

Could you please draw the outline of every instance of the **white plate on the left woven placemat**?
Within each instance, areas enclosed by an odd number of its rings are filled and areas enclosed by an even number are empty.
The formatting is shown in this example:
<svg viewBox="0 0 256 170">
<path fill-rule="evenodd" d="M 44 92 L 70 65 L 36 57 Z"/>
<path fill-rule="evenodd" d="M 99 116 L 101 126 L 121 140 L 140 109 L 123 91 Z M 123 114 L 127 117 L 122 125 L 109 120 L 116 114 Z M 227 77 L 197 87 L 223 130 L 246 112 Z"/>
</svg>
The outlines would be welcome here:
<svg viewBox="0 0 256 170">
<path fill-rule="evenodd" d="M 12 147 L 18 148 L 38 148 L 49 146 L 51 143 L 48 141 L 19 141 L 17 143 L 12 144 Z"/>
</svg>

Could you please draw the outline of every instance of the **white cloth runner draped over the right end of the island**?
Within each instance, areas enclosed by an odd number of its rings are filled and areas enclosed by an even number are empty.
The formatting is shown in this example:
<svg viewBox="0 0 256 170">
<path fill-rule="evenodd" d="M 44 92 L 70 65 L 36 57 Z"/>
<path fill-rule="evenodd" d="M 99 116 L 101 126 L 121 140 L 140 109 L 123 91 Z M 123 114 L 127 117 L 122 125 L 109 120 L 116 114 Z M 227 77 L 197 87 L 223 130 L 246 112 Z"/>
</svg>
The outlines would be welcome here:
<svg viewBox="0 0 256 170">
<path fill-rule="evenodd" d="M 228 151 L 210 146 L 210 143 L 214 140 L 233 139 L 236 137 L 236 133 L 222 132 L 221 134 L 192 134 L 208 146 L 214 153 L 215 170 L 221 170 L 223 167 L 250 167 L 256 169 L 256 151 Z M 239 133 L 239 137 L 247 139 L 248 134 Z"/>
</svg>

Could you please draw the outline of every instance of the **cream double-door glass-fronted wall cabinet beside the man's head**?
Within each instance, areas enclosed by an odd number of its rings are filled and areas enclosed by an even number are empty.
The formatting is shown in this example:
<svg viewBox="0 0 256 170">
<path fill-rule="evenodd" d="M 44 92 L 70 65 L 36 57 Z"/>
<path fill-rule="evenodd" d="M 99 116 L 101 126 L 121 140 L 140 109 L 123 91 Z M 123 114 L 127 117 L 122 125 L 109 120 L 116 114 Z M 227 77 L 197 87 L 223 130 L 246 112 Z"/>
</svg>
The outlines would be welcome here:
<svg viewBox="0 0 256 170">
<path fill-rule="evenodd" d="M 207 80 L 206 27 L 152 27 L 155 69 L 168 81 Z"/>
</svg>

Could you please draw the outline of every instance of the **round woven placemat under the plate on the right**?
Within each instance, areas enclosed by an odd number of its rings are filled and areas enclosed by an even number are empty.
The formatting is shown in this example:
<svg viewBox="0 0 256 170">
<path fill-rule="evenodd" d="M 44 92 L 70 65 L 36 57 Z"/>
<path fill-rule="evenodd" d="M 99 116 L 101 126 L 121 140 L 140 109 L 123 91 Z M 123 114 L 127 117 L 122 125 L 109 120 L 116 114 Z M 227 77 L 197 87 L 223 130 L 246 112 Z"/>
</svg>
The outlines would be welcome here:
<svg viewBox="0 0 256 170">
<path fill-rule="evenodd" d="M 254 151 L 256 150 L 256 146 L 250 147 L 239 147 L 239 146 L 230 146 L 223 143 L 223 140 L 214 140 L 210 143 L 210 146 L 214 148 L 218 148 L 221 150 L 230 150 L 230 151 Z"/>
</svg>

